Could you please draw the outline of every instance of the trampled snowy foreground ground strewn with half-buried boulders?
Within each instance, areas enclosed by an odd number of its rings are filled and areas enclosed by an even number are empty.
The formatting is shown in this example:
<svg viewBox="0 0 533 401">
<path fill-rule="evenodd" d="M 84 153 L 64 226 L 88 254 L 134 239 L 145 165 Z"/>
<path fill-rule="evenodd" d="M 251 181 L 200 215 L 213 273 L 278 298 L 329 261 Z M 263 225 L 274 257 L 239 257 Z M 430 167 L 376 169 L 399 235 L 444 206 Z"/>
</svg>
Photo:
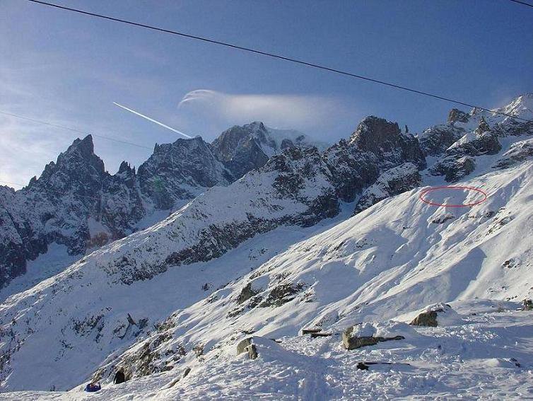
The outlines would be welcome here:
<svg viewBox="0 0 533 401">
<path fill-rule="evenodd" d="M 414 326 L 401 341 L 346 350 L 339 333 L 254 337 L 257 358 L 216 349 L 169 371 L 90 394 L 23 391 L 1 400 L 377 400 L 533 396 L 533 312 L 505 301 L 452 303 L 462 325 Z M 385 323 L 386 325 L 386 323 Z"/>
</svg>

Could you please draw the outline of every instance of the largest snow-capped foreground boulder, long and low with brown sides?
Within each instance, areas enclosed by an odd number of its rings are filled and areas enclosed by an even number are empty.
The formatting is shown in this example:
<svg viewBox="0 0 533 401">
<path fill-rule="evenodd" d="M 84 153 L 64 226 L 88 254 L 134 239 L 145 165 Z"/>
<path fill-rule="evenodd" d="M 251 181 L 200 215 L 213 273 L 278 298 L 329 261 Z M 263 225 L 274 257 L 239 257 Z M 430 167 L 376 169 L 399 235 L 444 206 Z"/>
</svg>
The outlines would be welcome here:
<svg viewBox="0 0 533 401">
<path fill-rule="evenodd" d="M 365 322 L 348 327 L 342 333 L 342 344 L 346 349 L 357 349 L 378 342 L 405 339 L 414 335 L 413 329 L 400 322 Z"/>
</svg>

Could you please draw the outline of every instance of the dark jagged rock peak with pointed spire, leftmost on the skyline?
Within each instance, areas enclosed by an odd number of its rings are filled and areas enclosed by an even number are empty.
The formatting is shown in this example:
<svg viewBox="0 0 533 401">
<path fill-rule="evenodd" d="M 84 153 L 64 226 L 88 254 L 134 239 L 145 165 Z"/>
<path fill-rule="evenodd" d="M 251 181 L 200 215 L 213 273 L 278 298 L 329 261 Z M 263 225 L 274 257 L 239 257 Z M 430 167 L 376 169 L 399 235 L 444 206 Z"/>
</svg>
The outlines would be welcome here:
<svg viewBox="0 0 533 401">
<path fill-rule="evenodd" d="M 3 197 L 0 231 L 0 286 L 25 272 L 26 260 L 46 252 L 52 242 L 71 254 L 83 252 L 90 240 L 87 216 L 101 211 L 100 194 L 107 178 L 104 164 L 93 153 L 93 139 L 76 139 L 57 162 L 46 165 L 28 187 Z"/>
</svg>

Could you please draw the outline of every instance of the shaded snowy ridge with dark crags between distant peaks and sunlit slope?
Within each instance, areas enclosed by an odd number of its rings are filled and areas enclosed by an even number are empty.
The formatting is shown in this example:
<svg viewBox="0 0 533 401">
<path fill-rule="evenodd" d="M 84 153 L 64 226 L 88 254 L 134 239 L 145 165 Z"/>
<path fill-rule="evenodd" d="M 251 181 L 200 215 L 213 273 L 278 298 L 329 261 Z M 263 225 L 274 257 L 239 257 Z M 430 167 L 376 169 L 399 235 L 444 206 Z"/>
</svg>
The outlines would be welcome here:
<svg viewBox="0 0 533 401">
<path fill-rule="evenodd" d="M 370 134 L 382 128 L 380 140 L 373 140 Z M 382 147 L 391 144 L 399 149 Z M 416 145 L 416 139 L 402 134 L 397 124 L 368 117 L 351 145 L 344 141 L 324 154 L 316 148 L 290 147 L 230 187 L 213 187 L 164 221 L 105 245 L 61 274 L 11 296 L 0 306 L 3 387 L 28 388 L 28 369 L 23 366 L 32 364 L 42 368 L 32 371 L 30 385 L 69 388 L 106 356 L 153 330 L 172 310 L 198 300 L 198 287 L 184 284 L 180 274 L 197 279 L 199 267 L 194 264 L 220 258 L 250 238 L 281 226 L 314 226 L 336 216 L 343 197 L 353 200 L 377 178 L 380 163 L 422 163 L 419 149 L 413 151 L 409 144 Z M 281 240 L 287 245 L 291 239 Z M 242 274 L 241 267 L 227 263 L 220 269 L 226 281 L 211 280 L 209 273 L 202 275 L 202 284 L 213 281 L 218 288 Z M 165 273 L 170 271 L 169 279 Z M 177 294 L 183 292 L 176 303 L 169 296 L 174 288 Z M 150 298 L 153 291 L 156 303 Z M 133 300 L 139 303 L 135 315 Z"/>
</svg>

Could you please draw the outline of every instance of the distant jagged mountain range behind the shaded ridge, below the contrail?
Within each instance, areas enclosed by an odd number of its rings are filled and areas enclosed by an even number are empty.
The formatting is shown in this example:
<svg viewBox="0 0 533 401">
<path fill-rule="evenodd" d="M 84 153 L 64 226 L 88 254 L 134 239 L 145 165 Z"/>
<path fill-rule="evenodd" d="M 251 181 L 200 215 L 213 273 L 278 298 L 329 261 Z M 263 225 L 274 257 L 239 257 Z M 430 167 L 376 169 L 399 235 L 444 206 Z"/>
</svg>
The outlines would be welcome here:
<svg viewBox="0 0 533 401">
<path fill-rule="evenodd" d="M 257 138 L 268 155 L 280 151 L 278 144 L 312 145 L 303 134 L 266 129 L 262 123 L 232 129 L 251 126 L 261 128 L 250 138 Z M 81 257 L 88 250 L 151 226 L 206 189 L 229 185 L 266 163 L 267 156 L 262 163 L 244 163 L 239 175 L 234 175 L 225 168 L 226 159 L 216 151 L 217 144 L 224 143 L 225 151 L 238 153 L 240 158 L 252 155 L 243 150 L 240 140 L 227 143 L 230 136 L 224 132 L 213 145 L 199 136 L 156 144 L 137 171 L 123 162 L 119 171 L 110 175 L 95 155 L 89 135 L 76 139 L 23 190 L 0 187 L 0 288 L 24 274 L 27 262 L 46 254 L 50 245 L 64 246 L 69 255 Z M 66 257 L 65 262 L 71 258 Z"/>
</svg>

